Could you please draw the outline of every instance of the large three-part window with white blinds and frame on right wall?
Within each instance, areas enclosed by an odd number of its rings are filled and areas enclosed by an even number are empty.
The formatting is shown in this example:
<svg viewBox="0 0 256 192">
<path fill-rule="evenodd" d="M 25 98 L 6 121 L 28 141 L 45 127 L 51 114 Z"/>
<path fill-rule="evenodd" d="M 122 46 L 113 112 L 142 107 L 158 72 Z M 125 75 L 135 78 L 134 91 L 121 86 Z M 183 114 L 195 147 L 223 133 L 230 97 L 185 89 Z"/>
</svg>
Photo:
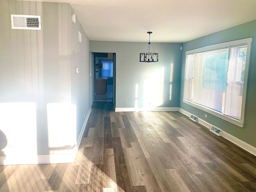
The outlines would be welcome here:
<svg viewBox="0 0 256 192">
<path fill-rule="evenodd" d="M 183 101 L 243 127 L 251 42 L 187 51 Z"/>
</svg>

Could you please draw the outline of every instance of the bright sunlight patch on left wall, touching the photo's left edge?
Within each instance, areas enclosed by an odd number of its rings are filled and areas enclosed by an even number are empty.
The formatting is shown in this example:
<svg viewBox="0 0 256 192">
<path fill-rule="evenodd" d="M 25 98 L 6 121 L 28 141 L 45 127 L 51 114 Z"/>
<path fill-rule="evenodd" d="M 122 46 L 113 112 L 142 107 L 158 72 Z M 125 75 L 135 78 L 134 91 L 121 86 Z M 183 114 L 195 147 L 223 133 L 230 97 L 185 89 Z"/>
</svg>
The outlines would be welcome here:
<svg viewBox="0 0 256 192">
<path fill-rule="evenodd" d="M 0 149 L 4 162 L 37 155 L 35 103 L 0 103 L 0 130 L 7 141 Z"/>
</svg>

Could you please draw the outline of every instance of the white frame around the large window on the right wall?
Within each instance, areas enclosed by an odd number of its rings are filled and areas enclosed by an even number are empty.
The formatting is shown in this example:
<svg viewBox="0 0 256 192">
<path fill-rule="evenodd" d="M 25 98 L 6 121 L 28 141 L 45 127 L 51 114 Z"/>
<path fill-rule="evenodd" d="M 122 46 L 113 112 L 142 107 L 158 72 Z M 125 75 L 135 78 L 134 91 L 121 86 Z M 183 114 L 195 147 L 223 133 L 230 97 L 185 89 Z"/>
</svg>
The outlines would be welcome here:
<svg viewBox="0 0 256 192">
<path fill-rule="evenodd" d="M 252 42 L 252 38 L 246 38 L 246 39 L 241 39 L 241 40 L 235 40 L 235 41 L 224 42 L 224 43 L 220 43 L 220 44 L 204 46 L 201 48 L 186 51 L 185 70 L 184 70 L 183 102 L 242 128 L 244 126 L 244 112 L 245 112 L 245 104 L 246 104 L 246 92 L 247 92 L 248 71 L 249 71 L 249 63 L 250 63 L 251 42 Z M 245 72 L 244 72 L 244 87 L 243 87 L 242 108 L 241 108 L 240 120 L 233 119 L 233 118 L 226 116 L 220 112 L 216 112 L 210 108 L 207 108 L 205 106 L 196 104 L 194 102 L 191 102 L 191 101 L 185 99 L 186 68 L 187 68 L 187 56 L 188 55 L 196 54 L 196 53 L 200 53 L 200 52 L 218 50 L 218 49 L 223 49 L 223 48 L 230 48 L 231 46 L 240 46 L 242 44 L 247 45 L 247 53 L 246 53 L 246 64 L 245 64 Z"/>
</svg>

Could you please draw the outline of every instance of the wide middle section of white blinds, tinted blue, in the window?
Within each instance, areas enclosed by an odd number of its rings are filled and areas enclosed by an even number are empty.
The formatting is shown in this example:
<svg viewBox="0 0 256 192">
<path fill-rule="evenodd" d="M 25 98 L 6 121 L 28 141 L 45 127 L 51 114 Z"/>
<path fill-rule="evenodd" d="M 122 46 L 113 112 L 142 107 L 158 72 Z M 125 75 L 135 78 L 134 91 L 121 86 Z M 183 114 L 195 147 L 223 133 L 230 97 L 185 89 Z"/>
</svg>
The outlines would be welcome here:
<svg viewBox="0 0 256 192">
<path fill-rule="evenodd" d="M 228 50 L 196 54 L 193 102 L 222 112 L 226 88 Z"/>
</svg>

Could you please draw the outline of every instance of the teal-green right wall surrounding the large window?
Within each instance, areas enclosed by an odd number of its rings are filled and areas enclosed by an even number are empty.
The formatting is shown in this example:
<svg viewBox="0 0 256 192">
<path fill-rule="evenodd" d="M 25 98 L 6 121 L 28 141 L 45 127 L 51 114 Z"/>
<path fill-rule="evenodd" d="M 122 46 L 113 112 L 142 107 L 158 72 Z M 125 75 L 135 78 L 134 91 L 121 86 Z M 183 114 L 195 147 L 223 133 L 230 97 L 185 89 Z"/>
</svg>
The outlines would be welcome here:
<svg viewBox="0 0 256 192">
<path fill-rule="evenodd" d="M 245 120 L 244 128 L 240 128 L 208 114 L 207 119 L 204 118 L 205 112 L 187 105 L 182 102 L 183 90 L 184 90 L 184 70 L 185 70 L 185 52 L 188 50 L 208 46 L 212 44 L 218 44 L 222 42 L 228 42 L 233 40 L 239 40 L 252 37 L 252 47 L 250 53 L 250 66 L 248 75 L 248 86 L 246 94 L 246 108 L 245 108 Z M 218 128 L 232 134 L 233 136 L 251 144 L 256 147 L 256 20 L 241 24 L 208 36 L 204 36 L 183 44 L 182 52 L 182 73 L 181 73 L 181 89 L 180 89 L 180 108 L 197 115 L 199 118 L 206 120 L 210 124 L 214 124 Z"/>
</svg>

